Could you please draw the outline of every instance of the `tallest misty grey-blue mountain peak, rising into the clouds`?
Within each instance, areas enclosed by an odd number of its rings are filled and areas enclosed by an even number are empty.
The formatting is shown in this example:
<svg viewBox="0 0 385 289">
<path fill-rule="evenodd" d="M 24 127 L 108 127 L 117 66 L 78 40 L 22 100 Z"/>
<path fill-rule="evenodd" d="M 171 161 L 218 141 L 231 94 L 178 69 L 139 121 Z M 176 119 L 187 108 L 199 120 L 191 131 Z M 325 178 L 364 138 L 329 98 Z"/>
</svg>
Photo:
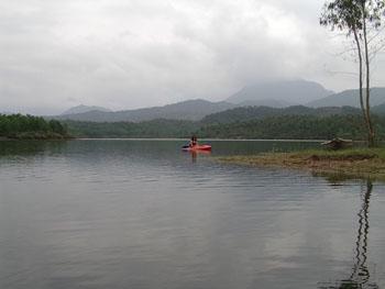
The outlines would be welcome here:
<svg viewBox="0 0 385 289">
<path fill-rule="evenodd" d="M 305 104 L 332 93 L 332 91 L 314 81 L 284 80 L 244 87 L 226 101 L 242 105 L 283 108 L 293 104 Z"/>
</svg>

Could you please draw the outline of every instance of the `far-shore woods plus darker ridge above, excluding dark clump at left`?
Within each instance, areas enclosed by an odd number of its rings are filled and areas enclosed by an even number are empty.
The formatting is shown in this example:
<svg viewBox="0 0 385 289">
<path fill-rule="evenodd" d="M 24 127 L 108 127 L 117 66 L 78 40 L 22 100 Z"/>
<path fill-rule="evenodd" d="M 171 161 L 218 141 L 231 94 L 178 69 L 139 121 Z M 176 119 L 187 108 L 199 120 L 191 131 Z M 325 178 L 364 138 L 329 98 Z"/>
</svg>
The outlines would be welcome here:
<svg viewBox="0 0 385 289">
<path fill-rule="evenodd" d="M 385 116 L 375 116 L 378 136 L 385 135 Z M 209 138 L 315 138 L 336 136 L 363 140 L 361 110 L 343 108 L 290 107 L 275 109 L 246 107 L 227 110 L 201 121 L 152 120 L 145 122 L 67 121 L 70 134 L 78 137 L 182 137 L 191 134 Z"/>
</svg>

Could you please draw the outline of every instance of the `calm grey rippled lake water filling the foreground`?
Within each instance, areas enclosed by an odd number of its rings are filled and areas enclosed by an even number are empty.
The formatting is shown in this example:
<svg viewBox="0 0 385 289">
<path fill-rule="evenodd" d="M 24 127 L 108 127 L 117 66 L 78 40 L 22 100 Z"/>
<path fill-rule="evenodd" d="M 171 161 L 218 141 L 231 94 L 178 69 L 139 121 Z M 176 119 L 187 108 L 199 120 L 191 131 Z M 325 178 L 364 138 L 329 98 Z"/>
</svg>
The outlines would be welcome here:
<svg viewBox="0 0 385 289">
<path fill-rule="evenodd" d="M 385 187 L 183 142 L 0 142 L 0 288 L 384 288 Z M 315 144 L 215 142 L 212 155 Z"/>
</svg>

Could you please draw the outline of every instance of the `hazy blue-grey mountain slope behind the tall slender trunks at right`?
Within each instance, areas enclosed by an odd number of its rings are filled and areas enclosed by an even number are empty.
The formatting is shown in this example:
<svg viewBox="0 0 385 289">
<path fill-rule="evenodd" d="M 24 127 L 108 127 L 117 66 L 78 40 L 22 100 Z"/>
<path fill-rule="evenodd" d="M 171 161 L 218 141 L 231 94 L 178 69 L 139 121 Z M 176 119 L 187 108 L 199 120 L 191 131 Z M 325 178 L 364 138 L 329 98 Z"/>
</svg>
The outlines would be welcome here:
<svg viewBox="0 0 385 289">
<path fill-rule="evenodd" d="M 365 93 L 364 93 L 365 96 Z M 385 88 L 374 87 L 371 89 L 371 107 L 380 105 L 385 103 Z M 334 93 L 332 96 L 309 101 L 307 107 L 321 108 L 321 107 L 343 107 L 351 105 L 360 108 L 360 93 L 359 89 L 349 89 Z"/>
</svg>

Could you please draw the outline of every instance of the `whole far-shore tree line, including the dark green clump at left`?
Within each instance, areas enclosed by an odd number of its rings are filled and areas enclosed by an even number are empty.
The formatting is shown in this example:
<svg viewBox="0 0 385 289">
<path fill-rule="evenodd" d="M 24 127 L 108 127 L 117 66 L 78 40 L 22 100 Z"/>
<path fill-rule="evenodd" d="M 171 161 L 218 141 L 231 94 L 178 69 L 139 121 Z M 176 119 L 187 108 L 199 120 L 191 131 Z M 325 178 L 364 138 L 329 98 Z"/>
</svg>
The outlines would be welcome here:
<svg viewBox="0 0 385 289">
<path fill-rule="evenodd" d="M 374 115 L 377 140 L 385 138 L 385 116 Z M 205 121 L 153 120 L 145 122 L 97 123 L 45 120 L 32 115 L 0 115 L 0 137 L 48 140 L 90 138 L 200 138 L 245 140 L 330 140 L 364 141 L 365 125 L 359 114 L 273 115 L 231 123 Z"/>
</svg>

